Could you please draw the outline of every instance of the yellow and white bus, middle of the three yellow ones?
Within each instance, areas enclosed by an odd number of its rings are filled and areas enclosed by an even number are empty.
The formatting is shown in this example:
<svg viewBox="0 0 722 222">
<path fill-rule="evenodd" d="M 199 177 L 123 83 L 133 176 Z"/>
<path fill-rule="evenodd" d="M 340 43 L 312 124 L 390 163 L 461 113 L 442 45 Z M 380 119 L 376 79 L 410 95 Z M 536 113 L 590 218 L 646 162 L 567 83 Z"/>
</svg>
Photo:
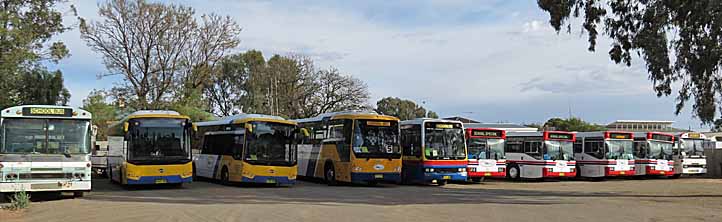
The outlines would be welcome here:
<svg viewBox="0 0 722 222">
<path fill-rule="evenodd" d="M 296 123 L 278 116 L 240 114 L 196 123 L 193 172 L 231 182 L 292 185 L 296 182 Z"/>
</svg>

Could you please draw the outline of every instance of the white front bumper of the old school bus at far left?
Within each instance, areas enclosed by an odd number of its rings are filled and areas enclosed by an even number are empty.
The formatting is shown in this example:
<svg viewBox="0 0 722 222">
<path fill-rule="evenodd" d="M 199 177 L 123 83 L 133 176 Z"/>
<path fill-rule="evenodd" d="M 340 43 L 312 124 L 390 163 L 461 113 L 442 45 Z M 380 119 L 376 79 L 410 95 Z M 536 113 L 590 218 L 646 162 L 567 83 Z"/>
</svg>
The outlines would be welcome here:
<svg viewBox="0 0 722 222">
<path fill-rule="evenodd" d="M 0 192 L 90 191 L 90 181 L 0 182 Z"/>
</svg>

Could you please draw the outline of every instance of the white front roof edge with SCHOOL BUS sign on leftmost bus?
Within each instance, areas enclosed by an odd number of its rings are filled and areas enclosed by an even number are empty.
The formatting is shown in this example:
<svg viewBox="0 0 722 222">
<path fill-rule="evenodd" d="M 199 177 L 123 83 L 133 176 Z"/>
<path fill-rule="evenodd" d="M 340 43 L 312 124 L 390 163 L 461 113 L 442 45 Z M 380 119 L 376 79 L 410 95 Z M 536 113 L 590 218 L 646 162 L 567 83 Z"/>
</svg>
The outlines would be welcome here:
<svg viewBox="0 0 722 222">
<path fill-rule="evenodd" d="M 33 115 L 33 109 L 43 111 L 43 114 Z M 40 110 L 40 109 L 44 110 Z M 51 110 L 62 109 L 63 113 L 49 113 Z M 92 114 L 83 109 L 74 108 L 70 106 L 56 106 L 56 105 L 23 105 L 13 106 L 0 111 L 0 117 L 16 117 L 16 118 L 39 118 L 39 119 L 92 119 Z"/>
</svg>

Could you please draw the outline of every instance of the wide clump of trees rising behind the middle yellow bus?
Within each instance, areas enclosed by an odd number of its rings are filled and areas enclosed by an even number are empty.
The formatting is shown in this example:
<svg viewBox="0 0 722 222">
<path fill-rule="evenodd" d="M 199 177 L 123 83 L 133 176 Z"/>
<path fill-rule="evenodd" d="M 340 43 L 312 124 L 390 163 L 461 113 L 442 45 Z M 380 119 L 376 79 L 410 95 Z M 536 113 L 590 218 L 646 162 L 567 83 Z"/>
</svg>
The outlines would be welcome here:
<svg viewBox="0 0 722 222">
<path fill-rule="evenodd" d="M 369 98 L 362 81 L 335 68 L 316 69 L 303 56 L 274 55 L 266 61 L 260 51 L 250 50 L 227 56 L 217 72 L 205 98 L 218 115 L 242 111 L 306 118 L 362 109 Z"/>
</svg>

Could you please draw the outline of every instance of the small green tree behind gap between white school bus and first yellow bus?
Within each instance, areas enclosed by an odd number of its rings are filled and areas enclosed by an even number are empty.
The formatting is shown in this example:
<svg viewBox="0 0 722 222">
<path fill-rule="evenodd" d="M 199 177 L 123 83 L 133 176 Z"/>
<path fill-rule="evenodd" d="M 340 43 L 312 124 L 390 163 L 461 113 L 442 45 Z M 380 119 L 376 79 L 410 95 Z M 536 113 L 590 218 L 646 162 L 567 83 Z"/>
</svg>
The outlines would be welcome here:
<svg viewBox="0 0 722 222">
<path fill-rule="evenodd" d="M 97 140 L 107 140 L 108 126 L 118 119 L 120 110 L 108 101 L 108 93 L 103 90 L 93 90 L 83 100 L 84 110 L 93 114 L 93 125 L 98 126 Z"/>
</svg>

